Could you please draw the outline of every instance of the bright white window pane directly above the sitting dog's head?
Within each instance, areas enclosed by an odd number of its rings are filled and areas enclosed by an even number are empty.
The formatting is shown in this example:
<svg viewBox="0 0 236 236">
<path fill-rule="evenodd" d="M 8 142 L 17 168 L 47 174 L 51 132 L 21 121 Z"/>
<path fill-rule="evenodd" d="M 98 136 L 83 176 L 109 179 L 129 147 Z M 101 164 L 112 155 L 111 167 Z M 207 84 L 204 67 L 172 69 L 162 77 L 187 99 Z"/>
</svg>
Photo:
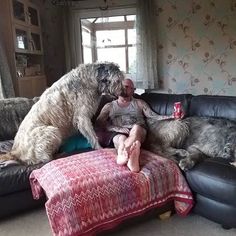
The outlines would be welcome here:
<svg viewBox="0 0 236 236">
<path fill-rule="evenodd" d="M 122 71 L 126 71 L 125 48 L 99 48 L 98 61 L 115 62 L 120 66 Z"/>
</svg>

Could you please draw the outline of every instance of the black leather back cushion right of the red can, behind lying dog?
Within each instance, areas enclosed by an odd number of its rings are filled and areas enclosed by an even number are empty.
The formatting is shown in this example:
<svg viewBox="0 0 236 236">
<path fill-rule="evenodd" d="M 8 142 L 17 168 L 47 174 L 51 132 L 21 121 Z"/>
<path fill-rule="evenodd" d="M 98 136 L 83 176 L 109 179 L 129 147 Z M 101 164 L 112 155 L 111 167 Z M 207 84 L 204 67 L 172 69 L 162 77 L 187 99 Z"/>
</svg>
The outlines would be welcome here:
<svg viewBox="0 0 236 236">
<path fill-rule="evenodd" d="M 236 119 L 236 97 L 233 96 L 193 96 L 190 104 L 190 116 L 212 116 Z"/>
</svg>

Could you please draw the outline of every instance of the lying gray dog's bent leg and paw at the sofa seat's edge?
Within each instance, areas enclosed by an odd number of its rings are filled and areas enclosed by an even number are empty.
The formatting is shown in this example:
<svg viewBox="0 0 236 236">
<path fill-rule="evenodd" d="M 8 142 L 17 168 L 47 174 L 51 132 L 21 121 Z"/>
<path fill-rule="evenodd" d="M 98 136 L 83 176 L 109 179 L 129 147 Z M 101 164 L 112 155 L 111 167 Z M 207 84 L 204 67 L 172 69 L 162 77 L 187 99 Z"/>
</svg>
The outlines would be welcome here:
<svg viewBox="0 0 236 236">
<path fill-rule="evenodd" d="M 183 171 L 192 169 L 197 163 L 207 158 L 207 156 L 202 153 L 197 146 L 192 145 L 188 147 L 187 151 L 189 152 L 189 155 L 179 161 L 179 167 Z"/>
</svg>

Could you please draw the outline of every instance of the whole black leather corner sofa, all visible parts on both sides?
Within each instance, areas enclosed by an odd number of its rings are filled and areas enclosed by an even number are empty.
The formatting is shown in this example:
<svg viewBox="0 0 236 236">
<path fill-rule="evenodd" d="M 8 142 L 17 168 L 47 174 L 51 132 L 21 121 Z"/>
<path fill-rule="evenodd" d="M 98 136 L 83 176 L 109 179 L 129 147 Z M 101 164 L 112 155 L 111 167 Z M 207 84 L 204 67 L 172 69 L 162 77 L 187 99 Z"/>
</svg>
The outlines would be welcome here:
<svg viewBox="0 0 236 236">
<path fill-rule="evenodd" d="M 212 116 L 236 121 L 236 97 L 144 93 L 141 98 L 161 115 L 172 114 L 174 102 L 180 101 L 186 116 Z M 104 96 L 99 110 L 107 101 L 107 97 Z M 15 122 L 15 126 L 9 135 L 5 127 L 0 124 L 1 140 L 14 137 L 17 126 L 27 113 L 27 111 L 20 113 L 17 106 L 6 109 L 3 103 L 5 101 L 0 100 L 1 116 L 5 114 L 8 123 Z M 29 104 L 27 109 L 30 109 L 32 104 Z M 12 109 L 11 114 L 9 109 Z M 31 171 L 40 166 L 17 165 L 0 169 L 0 217 L 34 208 L 45 202 L 45 199 L 41 201 L 32 199 L 28 180 Z M 185 176 L 195 196 L 194 212 L 225 228 L 236 228 L 236 167 L 225 160 L 212 158 L 196 165 L 186 172 Z"/>
</svg>

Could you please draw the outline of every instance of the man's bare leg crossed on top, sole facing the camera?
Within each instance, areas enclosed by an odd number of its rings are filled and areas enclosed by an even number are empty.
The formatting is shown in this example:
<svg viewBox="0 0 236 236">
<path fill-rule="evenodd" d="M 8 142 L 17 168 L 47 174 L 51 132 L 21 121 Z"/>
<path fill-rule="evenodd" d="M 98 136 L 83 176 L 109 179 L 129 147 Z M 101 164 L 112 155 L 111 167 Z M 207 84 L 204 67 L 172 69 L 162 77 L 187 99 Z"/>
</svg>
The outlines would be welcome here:
<svg viewBox="0 0 236 236">
<path fill-rule="evenodd" d="M 134 125 L 130 130 L 129 137 L 125 140 L 124 145 L 128 149 L 129 160 L 127 163 L 128 168 L 133 172 L 139 172 L 139 155 L 141 143 L 144 142 L 146 138 L 147 131 L 139 126 Z"/>
</svg>

